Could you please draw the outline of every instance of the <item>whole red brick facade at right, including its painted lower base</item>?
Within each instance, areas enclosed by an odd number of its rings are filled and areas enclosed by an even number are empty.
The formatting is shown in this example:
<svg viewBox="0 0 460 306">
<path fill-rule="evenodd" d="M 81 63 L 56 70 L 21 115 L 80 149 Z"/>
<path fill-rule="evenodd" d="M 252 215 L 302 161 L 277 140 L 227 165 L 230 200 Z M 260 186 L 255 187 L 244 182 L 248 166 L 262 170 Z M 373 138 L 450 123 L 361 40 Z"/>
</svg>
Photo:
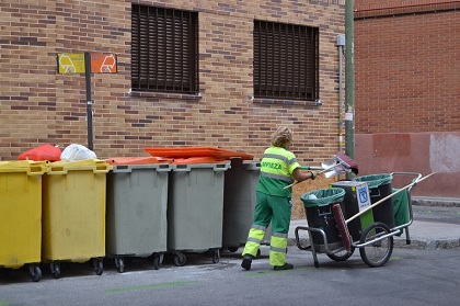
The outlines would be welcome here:
<svg viewBox="0 0 460 306">
<path fill-rule="evenodd" d="M 460 1 L 355 1 L 356 159 L 363 174 L 435 177 L 459 197 Z"/>
</svg>

